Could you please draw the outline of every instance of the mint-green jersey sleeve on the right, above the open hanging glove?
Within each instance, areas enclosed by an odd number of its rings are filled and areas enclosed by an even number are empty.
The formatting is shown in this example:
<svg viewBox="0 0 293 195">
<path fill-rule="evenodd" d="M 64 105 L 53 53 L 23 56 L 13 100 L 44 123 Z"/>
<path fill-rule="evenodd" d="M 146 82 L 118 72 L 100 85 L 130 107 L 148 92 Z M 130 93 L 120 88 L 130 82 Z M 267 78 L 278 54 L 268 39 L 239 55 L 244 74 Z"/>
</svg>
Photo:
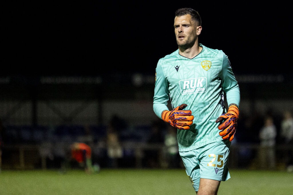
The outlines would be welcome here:
<svg viewBox="0 0 293 195">
<path fill-rule="evenodd" d="M 231 64 L 228 56 L 224 54 L 222 64 L 222 87 L 226 93 L 227 103 L 235 103 L 239 106 L 240 103 L 240 89 L 232 72 Z"/>
</svg>

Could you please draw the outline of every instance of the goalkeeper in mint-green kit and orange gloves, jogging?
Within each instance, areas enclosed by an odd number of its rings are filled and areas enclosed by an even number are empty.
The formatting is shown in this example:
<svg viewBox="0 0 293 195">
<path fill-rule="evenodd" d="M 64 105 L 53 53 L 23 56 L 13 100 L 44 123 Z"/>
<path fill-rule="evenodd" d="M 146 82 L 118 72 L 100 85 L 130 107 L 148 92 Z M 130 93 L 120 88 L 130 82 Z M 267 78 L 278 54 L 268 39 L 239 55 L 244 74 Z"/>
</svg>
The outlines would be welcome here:
<svg viewBox="0 0 293 195">
<path fill-rule="evenodd" d="M 224 52 L 199 44 L 197 11 L 178 9 L 174 29 L 178 50 L 158 61 L 154 112 L 177 128 L 179 153 L 196 193 L 217 194 L 220 182 L 230 178 L 228 156 L 239 115 L 239 86 Z M 169 98 L 172 111 L 166 106 Z"/>
</svg>

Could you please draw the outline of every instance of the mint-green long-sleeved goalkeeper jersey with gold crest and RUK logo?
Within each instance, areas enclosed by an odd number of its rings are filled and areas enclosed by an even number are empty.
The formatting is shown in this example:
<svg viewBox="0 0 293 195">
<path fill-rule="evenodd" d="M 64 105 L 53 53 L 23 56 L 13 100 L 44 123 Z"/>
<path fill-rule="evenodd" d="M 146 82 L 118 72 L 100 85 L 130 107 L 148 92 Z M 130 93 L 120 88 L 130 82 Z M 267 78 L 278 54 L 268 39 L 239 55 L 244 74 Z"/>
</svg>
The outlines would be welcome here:
<svg viewBox="0 0 293 195">
<path fill-rule="evenodd" d="M 179 49 L 159 59 L 156 67 L 154 112 L 161 118 L 170 99 L 173 108 L 186 103 L 194 116 L 189 130 L 177 129 L 179 151 L 190 151 L 223 140 L 216 119 L 228 105 L 239 106 L 240 90 L 228 57 L 222 50 L 203 46 L 192 59 L 179 55 Z"/>
</svg>

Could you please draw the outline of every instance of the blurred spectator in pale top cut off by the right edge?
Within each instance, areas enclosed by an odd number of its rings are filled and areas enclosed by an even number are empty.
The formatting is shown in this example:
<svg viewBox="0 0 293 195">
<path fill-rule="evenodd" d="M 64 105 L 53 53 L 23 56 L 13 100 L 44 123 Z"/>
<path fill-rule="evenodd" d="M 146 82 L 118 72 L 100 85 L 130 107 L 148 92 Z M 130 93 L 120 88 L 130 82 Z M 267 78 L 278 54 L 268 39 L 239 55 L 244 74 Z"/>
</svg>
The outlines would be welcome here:
<svg viewBox="0 0 293 195">
<path fill-rule="evenodd" d="M 281 123 L 281 138 L 284 144 L 293 144 L 293 118 L 290 111 L 285 111 L 283 115 L 283 120 Z M 285 153 L 285 162 L 287 165 L 287 170 L 293 170 L 293 151 L 289 150 L 288 153 Z"/>
</svg>

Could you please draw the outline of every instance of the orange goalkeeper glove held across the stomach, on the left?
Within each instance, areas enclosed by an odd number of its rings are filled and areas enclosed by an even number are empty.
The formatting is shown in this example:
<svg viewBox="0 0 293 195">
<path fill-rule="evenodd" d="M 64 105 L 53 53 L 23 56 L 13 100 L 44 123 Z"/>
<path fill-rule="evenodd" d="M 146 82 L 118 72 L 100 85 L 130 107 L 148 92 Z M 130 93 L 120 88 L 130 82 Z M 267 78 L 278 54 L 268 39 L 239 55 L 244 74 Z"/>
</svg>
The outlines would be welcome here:
<svg viewBox="0 0 293 195">
<path fill-rule="evenodd" d="M 191 110 L 183 110 L 186 106 L 187 104 L 183 103 L 172 111 L 165 110 L 162 112 L 161 117 L 173 127 L 188 130 L 189 125 L 193 122 L 193 115 L 191 115 Z"/>
</svg>

